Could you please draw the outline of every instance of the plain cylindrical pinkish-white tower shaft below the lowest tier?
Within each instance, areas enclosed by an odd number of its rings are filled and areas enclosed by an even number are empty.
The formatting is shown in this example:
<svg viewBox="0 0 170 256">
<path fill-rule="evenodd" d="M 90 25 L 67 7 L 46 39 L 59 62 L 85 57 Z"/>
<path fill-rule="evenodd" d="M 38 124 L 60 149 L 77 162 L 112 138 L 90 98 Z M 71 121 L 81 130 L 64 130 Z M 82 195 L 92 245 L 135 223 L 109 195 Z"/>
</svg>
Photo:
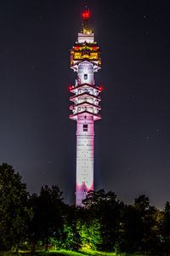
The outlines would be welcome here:
<svg viewBox="0 0 170 256">
<path fill-rule="evenodd" d="M 76 204 L 82 206 L 88 190 L 94 190 L 94 119 L 77 119 L 77 192 Z"/>
</svg>

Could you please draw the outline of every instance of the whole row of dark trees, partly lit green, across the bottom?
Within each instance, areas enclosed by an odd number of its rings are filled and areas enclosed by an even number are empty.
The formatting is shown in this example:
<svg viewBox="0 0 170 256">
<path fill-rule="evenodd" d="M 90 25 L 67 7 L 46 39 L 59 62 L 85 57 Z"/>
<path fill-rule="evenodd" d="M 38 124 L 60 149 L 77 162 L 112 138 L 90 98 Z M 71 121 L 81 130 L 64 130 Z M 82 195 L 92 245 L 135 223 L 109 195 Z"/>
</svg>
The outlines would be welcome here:
<svg viewBox="0 0 170 256">
<path fill-rule="evenodd" d="M 0 166 L 0 250 L 48 247 L 116 253 L 170 253 L 170 204 L 160 211 L 140 195 L 133 205 L 114 192 L 90 191 L 84 207 L 65 205 L 57 186 L 29 195 L 12 166 Z"/>
</svg>

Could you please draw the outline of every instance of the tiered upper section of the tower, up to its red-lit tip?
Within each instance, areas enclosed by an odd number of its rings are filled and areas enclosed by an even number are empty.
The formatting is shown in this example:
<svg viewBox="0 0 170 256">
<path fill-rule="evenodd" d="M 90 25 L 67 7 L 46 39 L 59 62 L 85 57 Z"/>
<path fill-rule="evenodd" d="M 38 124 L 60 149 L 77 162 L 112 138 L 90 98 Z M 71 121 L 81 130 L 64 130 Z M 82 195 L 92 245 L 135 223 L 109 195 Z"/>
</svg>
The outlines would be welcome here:
<svg viewBox="0 0 170 256">
<path fill-rule="evenodd" d="M 101 52 L 99 45 L 94 42 L 92 29 L 88 28 L 89 15 L 89 9 L 82 13 L 82 32 L 78 33 L 78 42 L 71 49 L 71 68 L 77 72 L 76 84 L 69 88 L 74 94 L 70 97 L 74 102 L 70 107 L 73 112 L 70 119 L 74 120 L 79 115 L 100 119 L 99 93 L 102 87 L 94 83 L 94 73 L 101 68 Z"/>
</svg>

